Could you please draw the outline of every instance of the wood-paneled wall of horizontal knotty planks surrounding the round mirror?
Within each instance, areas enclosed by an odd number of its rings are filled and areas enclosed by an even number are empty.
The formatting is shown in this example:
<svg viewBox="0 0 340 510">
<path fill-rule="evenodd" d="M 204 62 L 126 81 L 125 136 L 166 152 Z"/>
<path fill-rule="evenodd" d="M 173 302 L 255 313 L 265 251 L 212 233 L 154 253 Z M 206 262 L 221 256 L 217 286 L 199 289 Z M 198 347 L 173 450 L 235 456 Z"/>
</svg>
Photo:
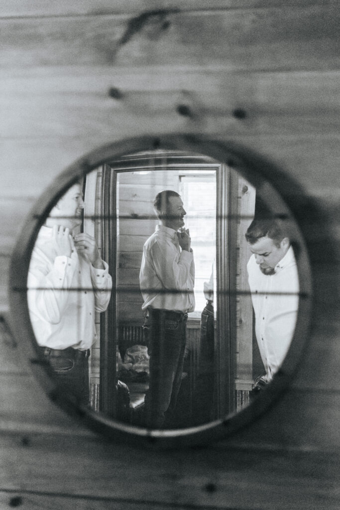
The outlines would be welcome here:
<svg viewBox="0 0 340 510">
<path fill-rule="evenodd" d="M 338 24 L 331 0 L 1 3 L 3 314 L 28 209 L 64 167 L 125 136 L 200 132 L 256 150 L 330 215 L 334 247 L 316 225 L 312 330 L 291 389 L 203 449 L 95 436 L 48 400 L 2 320 L 3 508 L 338 507 Z"/>
</svg>

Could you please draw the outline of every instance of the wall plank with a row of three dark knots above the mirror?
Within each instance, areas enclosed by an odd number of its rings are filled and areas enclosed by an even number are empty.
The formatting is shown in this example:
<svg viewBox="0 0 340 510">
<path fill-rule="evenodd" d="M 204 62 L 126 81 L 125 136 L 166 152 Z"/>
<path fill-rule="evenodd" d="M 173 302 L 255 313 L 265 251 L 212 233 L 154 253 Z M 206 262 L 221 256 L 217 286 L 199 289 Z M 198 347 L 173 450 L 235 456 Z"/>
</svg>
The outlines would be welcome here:
<svg viewBox="0 0 340 510">
<path fill-rule="evenodd" d="M 102 131 L 102 136 L 108 132 L 112 137 L 118 130 L 123 137 L 141 128 L 152 132 L 161 127 L 164 132 L 188 129 L 190 124 L 212 131 L 217 122 L 216 132 L 301 136 L 335 133 L 338 126 L 336 71 L 238 73 L 210 66 L 196 66 L 186 73 L 164 66 L 96 69 L 93 74 L 90 67 L 30 68 L 2 78 L 4 135 L 89 136 L 91 127 Z M 111 87 L 121 91 L 120 100 L 109 97 Z M 193 119 L 178 114 L 181 104 L 191 108 Z M 242 121 L 232 115 L 238 108 L 246 113 Z M 124 179 L 121 174 L 122 183 Z M 141 183 L 144 179 L 138 176 Z"/>
</svg>

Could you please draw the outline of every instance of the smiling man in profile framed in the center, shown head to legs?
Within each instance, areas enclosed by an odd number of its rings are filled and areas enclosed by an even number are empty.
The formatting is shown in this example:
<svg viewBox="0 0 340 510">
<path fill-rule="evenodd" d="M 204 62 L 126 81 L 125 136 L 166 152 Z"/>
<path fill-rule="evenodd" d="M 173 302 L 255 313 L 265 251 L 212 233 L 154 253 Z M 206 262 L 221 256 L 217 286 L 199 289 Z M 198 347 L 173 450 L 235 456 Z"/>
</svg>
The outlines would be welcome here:
<svg viewBox="0 0 340 510">
<path fill-rule="evenodd" d="M 159 224 L 144 244 L 140 270 L 150 355 L 145 418 L 147 426 L 164 428 L 171 422 L 181 384 L 187 317 L 195 309 L 195 266 L 178 193 L 162 191 L 153 205 Z"/>
</svg>

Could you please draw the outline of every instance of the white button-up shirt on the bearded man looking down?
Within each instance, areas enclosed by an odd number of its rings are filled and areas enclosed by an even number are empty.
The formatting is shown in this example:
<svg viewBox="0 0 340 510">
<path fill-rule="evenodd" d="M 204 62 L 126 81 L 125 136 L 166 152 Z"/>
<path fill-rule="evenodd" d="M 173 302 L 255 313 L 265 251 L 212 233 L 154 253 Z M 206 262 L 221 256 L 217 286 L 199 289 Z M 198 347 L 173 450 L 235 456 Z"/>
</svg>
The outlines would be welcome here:
<svg viewBox="0 0 340 510">
<path fill-rule="evenodd" d="M 282 364 L 291 344 L 299 304 L 299 278 L 293 248 L 275 266 L 273 275 L 263 274 L 253 254 L 247 265 L 255 312 L 255 333 L 270 380 Z"/>
</svg>

